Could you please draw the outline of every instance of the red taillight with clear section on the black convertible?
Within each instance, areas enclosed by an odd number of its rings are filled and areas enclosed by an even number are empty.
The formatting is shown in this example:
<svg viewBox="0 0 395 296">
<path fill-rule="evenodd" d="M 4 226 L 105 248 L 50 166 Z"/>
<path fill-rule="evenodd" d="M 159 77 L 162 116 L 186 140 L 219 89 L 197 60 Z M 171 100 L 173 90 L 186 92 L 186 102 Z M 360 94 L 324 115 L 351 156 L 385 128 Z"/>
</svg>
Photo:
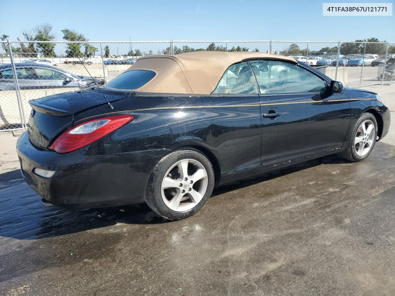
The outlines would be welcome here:
<svg viewBox="0 0 395 296">
<path fill-rule="evenodd" d="M 49 149 L 58 153 L 67 153 L 86 146 L 119 127 L 132 121 L 132 115 L 118 115 L 89 120 L 68 128 Z"/>
</svg>

